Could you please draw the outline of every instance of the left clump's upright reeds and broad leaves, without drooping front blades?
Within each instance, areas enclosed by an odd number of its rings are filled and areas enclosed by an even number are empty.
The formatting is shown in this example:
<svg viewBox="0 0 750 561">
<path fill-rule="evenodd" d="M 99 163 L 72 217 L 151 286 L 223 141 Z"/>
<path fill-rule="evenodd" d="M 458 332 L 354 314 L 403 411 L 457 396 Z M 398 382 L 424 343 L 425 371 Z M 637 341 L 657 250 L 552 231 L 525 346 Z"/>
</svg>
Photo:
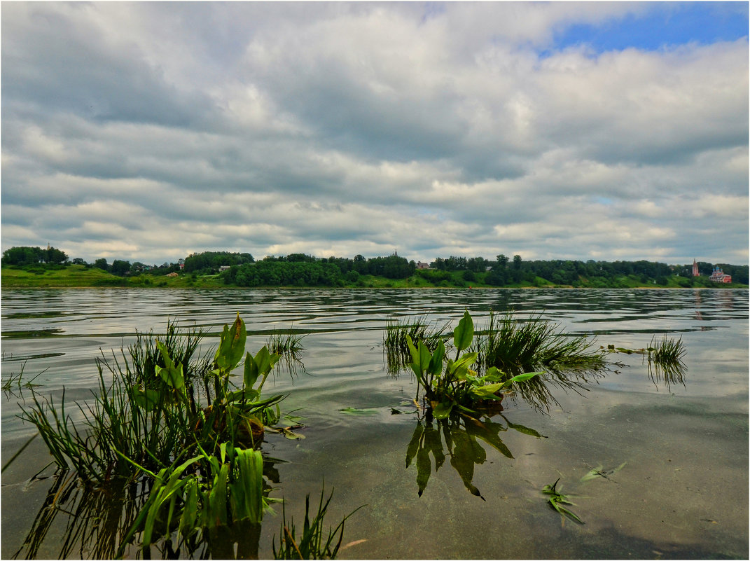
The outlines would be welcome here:
<svg viewBox="0 0 750 561">
<path fill-rule="evenodd" d="M 191 360 L 201 337 L 197 332 L 179 338 L 170 326 L 163 342 L 139 336 L 127 354 L 121 350 L 122 362 L 99 359 L 93 404 L 76 404 L 84 418 L 81 429 L 65 412 L 65 391 L 59 406 L 34 394 L 34 407 L 22 407 L 21 417 L 37 426 L 60 469 L 72 465 L 82 478 L 98 483 L 133 476 L 133 463 L 163 469 L 195 443 L 212 452 L 223 441 L 256 446 L 263 425 L 278 420 L 273 406 L 284 398 L 260 396 L 278 356 L 266 347 L 256 356 L 247 353 L 244 384 L 233 390 L 229 376 L 245 353 L 245 324 L 238 316 L 232 329 L 224 326 L 212 362 Z"/>
</svg>

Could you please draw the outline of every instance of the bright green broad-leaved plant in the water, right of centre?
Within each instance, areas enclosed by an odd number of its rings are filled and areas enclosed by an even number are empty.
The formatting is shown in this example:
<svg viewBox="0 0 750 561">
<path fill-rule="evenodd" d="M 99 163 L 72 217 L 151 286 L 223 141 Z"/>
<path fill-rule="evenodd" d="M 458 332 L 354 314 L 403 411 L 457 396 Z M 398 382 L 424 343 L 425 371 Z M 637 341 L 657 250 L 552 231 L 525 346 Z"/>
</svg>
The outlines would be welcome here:
<svg viewBox="0 0 750 561">
<path fill-rule="evenodd" d="M 456 358 L 448 359 L 443 368 L 446 347 L 443 341 L 437 343 L 431 353 L 420 341 L 415 347 L 407 337 L 407 344 L 412 356 L 410 367 L 416 374 L 417 382 L 425 390 L 425 398 L 430 402 L 432 414 L 436 419 L 446 419 L 454 407 L 466 413 L 476 413 L 475 409 L 487 407 L 491 401 L 502 401 L 502 391 L 514 383 L 530 380 L 541 372 L 525 372 L 508 377 L 495 367 L 490 367 L 483 376 L 469 369 L 477 359 L 478 353 L 463 353 L 474 339 L 474 323 L 469 312 L 463 314 L 458 326 L 453 331 L 453 346 Z M 419 388 L 417 389 L 419 399 Z"/>
</svg>

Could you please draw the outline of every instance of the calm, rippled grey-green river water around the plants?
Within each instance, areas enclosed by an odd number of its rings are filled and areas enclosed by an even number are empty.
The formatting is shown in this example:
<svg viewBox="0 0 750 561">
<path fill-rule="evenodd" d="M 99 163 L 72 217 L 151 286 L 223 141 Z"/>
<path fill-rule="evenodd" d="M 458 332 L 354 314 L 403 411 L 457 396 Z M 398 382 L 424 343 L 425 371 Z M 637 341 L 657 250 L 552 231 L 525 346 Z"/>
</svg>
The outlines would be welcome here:
<svg viewBox="0 0 750 561">
<path fill-rule="evenodd" d="M 365 541 L 341 558 L 748 557 L 747 290 L 4 290 L 1 302 L 3 380 L 25 365 L 24 377 L 42 372 L 36 390 L 55 401 L 63 387 L 66 401 L 89 399 L 95 358 L 127 347 L 136 331 L 163 332 L 167 318 L 207 330 L 206 348 L 237 312 L 248 350 L 275 330 L 307 334 L 304 369 L 275 377 L 275 390 L 288 395 L 283 410 L 304 418 L 305 440 L 270 435 L 263 450 L 285 462 L 276 464 L 271 496 L 284 496 L 296 520 L 324 478 L 335 488 L 329 523 L 365 505 L 347 522 L 344 543 Z M 506 400 L 493 422 L 508 454 L 480 444 L 467 466 L 446 450 L 437 472 L 431 456 L 419 496 L 415 462 L 406 461 L 419 422 L 406 404 L 416 383 L 387 373 L 383 333 L 389 319 L 425 314 L 455 326 L 464 309 L 480 325 L 490 311 L 541 314 L 597 347 L 682 337 L 682 383 L 667 387 L 642 357 L 620 354 L 610 358 L 622 364 L 580 394 L 553 389 L 559 404 L 548 412 Z M 4 393 L 3 463 L 34 432 L 16 418 L 29 395 Z M 49 460 L 34 441 L 2 475 L 4 559 L 43 508 L 52 479 L 29 478 Z M 592 468 L 619 466 L 581 481 Z M 469 467 L 484 500 L 463 484 Z M 557 478 L 583 525 L 548 508 L 541 488 Z M 264 519 L 261 556 L 270 555 L 280 518 Z M 37 556 L 58 557 L 66 523 L 58 514 Z"/>
</svg>

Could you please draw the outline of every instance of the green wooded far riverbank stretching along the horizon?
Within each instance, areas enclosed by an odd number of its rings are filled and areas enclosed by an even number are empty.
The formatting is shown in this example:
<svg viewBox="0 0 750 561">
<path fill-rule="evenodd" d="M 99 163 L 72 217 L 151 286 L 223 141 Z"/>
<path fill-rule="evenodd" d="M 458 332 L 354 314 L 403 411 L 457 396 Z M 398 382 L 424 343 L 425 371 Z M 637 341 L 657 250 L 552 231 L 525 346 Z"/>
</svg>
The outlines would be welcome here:
<svg viewBox="0 0 750 561">
<path fill-rule="evenodd" d="M 429 264 L 406 260 L 397 254 L 366 259 L 313 257 L 289 254 L 264 257 L 256 261 L 248 253 L 205 251 L 192 254 L 178 263 L 147 266 L 105 259 L 86 263 L 55 248 L 10 248 L 3 253 L 4 286 L 10 286 L 10 270 L 42 275 L 74 266 L 108 275 L 92 277 L 101 285 L 211 286 L 225 287 L 742 287 L 748 284 L 748 266 L 698 262 L 700 276 L 692 275 L 692 264 L 667 265 L 651 261 L 524 261 L 519 255 L 503 254 L 495 260 L 484 257 L 438 257 Z M 709 281 L 718 266 L 732 276 L 731 284 Z M 172 274 L 172 275 L 170 275 Z M 6 277 L 9 278 L 8 283 Z M 169 281 L 167 281 L 169 277 Z M 179 281 L 175 280 L 175 277 Z M 79 276 L 81 282 L 85 277 Z M 159 278 L 163 278 L 159 280 Z M 16 284 L 23 284 L 16 275 Z"/>
</svg>

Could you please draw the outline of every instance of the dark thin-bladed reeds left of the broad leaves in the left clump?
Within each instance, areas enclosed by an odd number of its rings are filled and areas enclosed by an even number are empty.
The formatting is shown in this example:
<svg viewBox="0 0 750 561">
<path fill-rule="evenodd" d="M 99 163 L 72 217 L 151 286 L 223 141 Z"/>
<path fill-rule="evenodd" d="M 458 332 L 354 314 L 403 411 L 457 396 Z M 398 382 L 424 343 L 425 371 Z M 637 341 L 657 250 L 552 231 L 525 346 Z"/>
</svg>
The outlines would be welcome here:
<svg viewBox="0 0 750 561">
<path fill-rule="evenodd" d="M 193 360 L 201 338 L 202 332 L 181 337 L 175 324 L 168 323 L 163 343 L 153 333 L 138 334 L 135 344 L 121 349 L 120 359 L 98 359 L 93 402 L 74 405 L 83 414 L 78 425 L 65 411 L 65 389 L 59 404 L 32 395 L 34 406 L 22 408 L 21 418 L 36 425 L 58 468 L 73 467 L 85 481 L 132 477 L 131 461 L 148 469 L 169 465 L 194 440 L 195 419 L 203 407 L 196 397 L 198 384 L 205 386 L 205 405 L 211 400 L 206 382 L 210 362 L 205 356 Z M 157 374 L 167 366 L 159 344 L 174 358 L 172 365 L 181 365 L 179 388 Z"/>
</svg>

